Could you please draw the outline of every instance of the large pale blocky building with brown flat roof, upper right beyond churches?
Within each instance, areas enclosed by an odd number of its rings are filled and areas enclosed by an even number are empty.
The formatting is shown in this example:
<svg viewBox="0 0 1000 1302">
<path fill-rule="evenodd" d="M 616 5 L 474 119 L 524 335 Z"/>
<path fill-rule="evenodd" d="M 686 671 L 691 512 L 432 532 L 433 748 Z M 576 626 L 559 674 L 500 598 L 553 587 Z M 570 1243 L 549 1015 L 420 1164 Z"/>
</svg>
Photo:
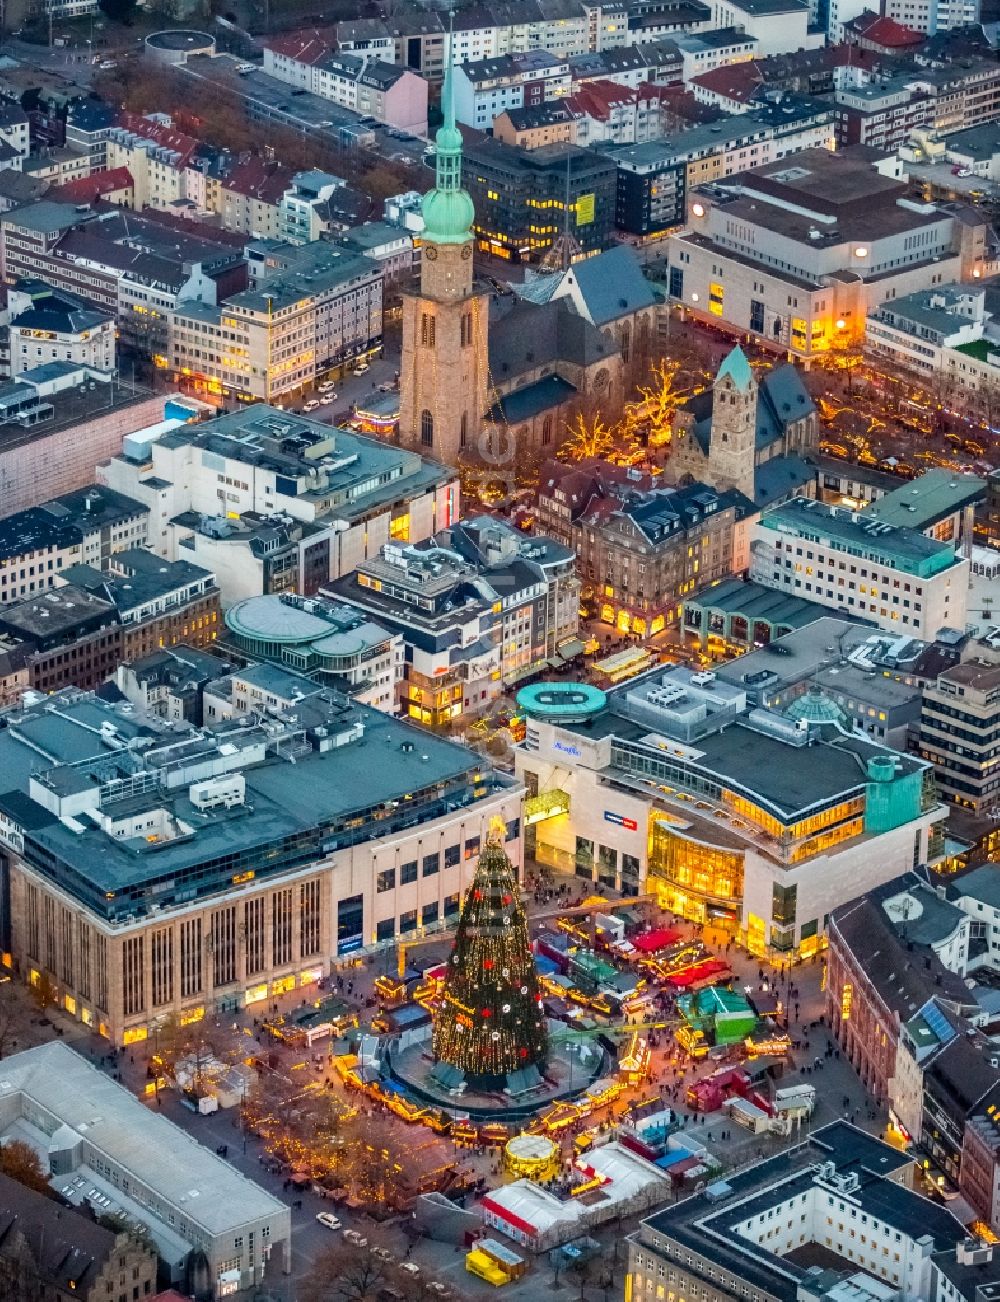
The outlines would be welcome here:
<svg viewBox="0 0 1000 1302">
<path fill-rule="evenodd" d="M 915 204 L 861 146 L 806 150 L 689 193 L 669 296 L 810 358 L 857 342 L 879 303 L 982 275 L 977 216 Z"/>
</svg>

